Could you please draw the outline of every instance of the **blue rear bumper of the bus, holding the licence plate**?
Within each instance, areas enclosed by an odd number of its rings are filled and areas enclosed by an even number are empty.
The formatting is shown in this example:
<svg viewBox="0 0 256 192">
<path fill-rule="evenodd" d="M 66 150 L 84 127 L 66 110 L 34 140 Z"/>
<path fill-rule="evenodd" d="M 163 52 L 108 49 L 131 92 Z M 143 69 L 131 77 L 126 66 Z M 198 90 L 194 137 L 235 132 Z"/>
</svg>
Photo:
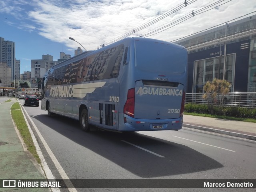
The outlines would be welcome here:
<svg viewBox="0 0 256 192">
<path fill-rule="evenodd" d="M 121 114 L 118 131 L 180 130 L 182 123 L 183 116 L 177 119 L 135 119 Z"/>
</svg>

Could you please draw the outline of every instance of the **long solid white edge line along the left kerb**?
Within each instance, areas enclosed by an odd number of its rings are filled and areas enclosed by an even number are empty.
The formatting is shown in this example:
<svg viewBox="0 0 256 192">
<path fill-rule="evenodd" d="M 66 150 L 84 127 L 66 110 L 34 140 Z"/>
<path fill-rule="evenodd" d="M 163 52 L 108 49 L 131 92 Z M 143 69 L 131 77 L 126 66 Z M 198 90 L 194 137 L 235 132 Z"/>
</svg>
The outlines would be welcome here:
<svg viewBox="0 0 256 192">
<path fill-rule="evenodd" d="M 20 103 L 20 102 L 19 102 Z M 20 106 L 22 106 L 20 104 Z M 52 150 L 50 149 L 50 147 L 48 146 L 48 144 L 46 143 L 46 141 L 44 140 L 42 134 L 40 133 L 40 131 L 38 130 L 38 128 L 36 127 L 36 125 L 34 124 L 34 122 L 32 121 L 32 119 L 30 118 L 30 116 L 28 115 L 27 111 L 25 110 L 25 108 L 22 106 L 22 108 L 24 109 L 24 112 L 26 113 L 26 115 L 28 116 L 28 119 L 30 120 L 30 122 L 32 123 L 34 129 L 36 130 L 36 133 L 38 134 L 42 144 L 44 145 L 44 148 L 46 149 L 48 155 L 50 156 L 50 158 L 52 159 L 52 162 L 54 163 L 55 167 L 57 168 L 58 172 L 60 173 L 60 176 L 62 177 L 62 179 L 64 179 L 64 182 L 67 186 L 71 186 L 72 188 L 68 188 L 68 190 L 70 192 L 77 192 L 76 188 L 73 186 L 72 182 L 70 181 L 70 179 L 68 178 L 68 175 L 66 174 L 66 172 L 64 171 L 64 169 L 62 168 L 62 166 L 60 165 L 60 163 L 58 162 L 57 158 L 54 156 Z M 23 111 L 23 110 L 22 110 Z M 24 116 L 25 120 L 26 120 L 26 116 Z M 27 123 L 28 124 L 28 123 Z M 29 126 L 29 124 L 28 124 Z M 31 130 L 32 131 L 32 130 Z M 34 134 L 33 132 L 30 132 L 31 134 Z M 39 147 L 39 146 L 38 146 Z M 42 157 L 45 164 L 46 161 L 44 159 L 44 156 Z M 54 176 L 52 175 L 51 170 L 49 169 L 49 172 L 51 173 L 51 179 L 54 179 Z M 52 178 L 53 177 L 53 178 Z M 49 179 L 49 178 L 48 178 Z M 54 188 L 52 188 L 54 189 Z M 57 188 L 58 189 L 58 188 Z"/>
</svg>

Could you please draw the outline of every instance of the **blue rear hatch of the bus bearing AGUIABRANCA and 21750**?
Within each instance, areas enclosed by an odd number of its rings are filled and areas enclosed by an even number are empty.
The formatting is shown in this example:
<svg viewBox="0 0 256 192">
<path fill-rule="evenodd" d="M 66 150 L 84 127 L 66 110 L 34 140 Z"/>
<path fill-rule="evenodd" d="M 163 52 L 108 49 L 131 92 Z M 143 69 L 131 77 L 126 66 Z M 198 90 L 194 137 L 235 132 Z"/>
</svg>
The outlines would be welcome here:
<svg viewBox="0 0 256 192">
<path fill-rule="evenodd" d="M 177 82 L 136 81 L 134 118 L 179 118 L 183 89 L 184 86 Z"/>
</svg>

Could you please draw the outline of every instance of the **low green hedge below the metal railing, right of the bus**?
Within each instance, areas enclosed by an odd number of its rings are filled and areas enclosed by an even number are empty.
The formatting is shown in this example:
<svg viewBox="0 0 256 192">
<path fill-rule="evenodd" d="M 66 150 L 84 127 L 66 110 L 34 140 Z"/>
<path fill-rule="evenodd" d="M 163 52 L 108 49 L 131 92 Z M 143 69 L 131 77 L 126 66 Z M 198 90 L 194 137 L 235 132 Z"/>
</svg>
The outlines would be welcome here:
<svg viewBox="0 0 256 192">
<path fill-rule="evenodd" d="M 195 104 L 188 103 L 185 104 L 185 112 L 190 113 L 200 113 L 200 114 L 210 114 L 206 104 Z M 252 118 L 256 119 L 256 109 L 253 108 L 242 108 L 242 107 L 218 107 L 214 106 L 213 114 L 224 115 L 239 118 Z"/>
</svg>

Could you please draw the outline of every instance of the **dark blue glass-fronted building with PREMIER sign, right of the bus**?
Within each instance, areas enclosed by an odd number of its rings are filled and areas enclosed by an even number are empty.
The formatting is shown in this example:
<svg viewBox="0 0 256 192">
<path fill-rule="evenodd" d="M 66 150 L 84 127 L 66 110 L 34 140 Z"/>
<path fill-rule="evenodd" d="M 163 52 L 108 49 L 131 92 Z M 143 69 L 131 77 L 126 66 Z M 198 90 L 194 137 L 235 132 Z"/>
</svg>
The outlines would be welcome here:
<svg viewBox="0 0 256 192">
<path fill-rule="evenodd" d="M 188 93 L 226 79 L 231 92 L 256 92 L 256 15 L 174 41 L 188 50 Z"/>
</svg>

